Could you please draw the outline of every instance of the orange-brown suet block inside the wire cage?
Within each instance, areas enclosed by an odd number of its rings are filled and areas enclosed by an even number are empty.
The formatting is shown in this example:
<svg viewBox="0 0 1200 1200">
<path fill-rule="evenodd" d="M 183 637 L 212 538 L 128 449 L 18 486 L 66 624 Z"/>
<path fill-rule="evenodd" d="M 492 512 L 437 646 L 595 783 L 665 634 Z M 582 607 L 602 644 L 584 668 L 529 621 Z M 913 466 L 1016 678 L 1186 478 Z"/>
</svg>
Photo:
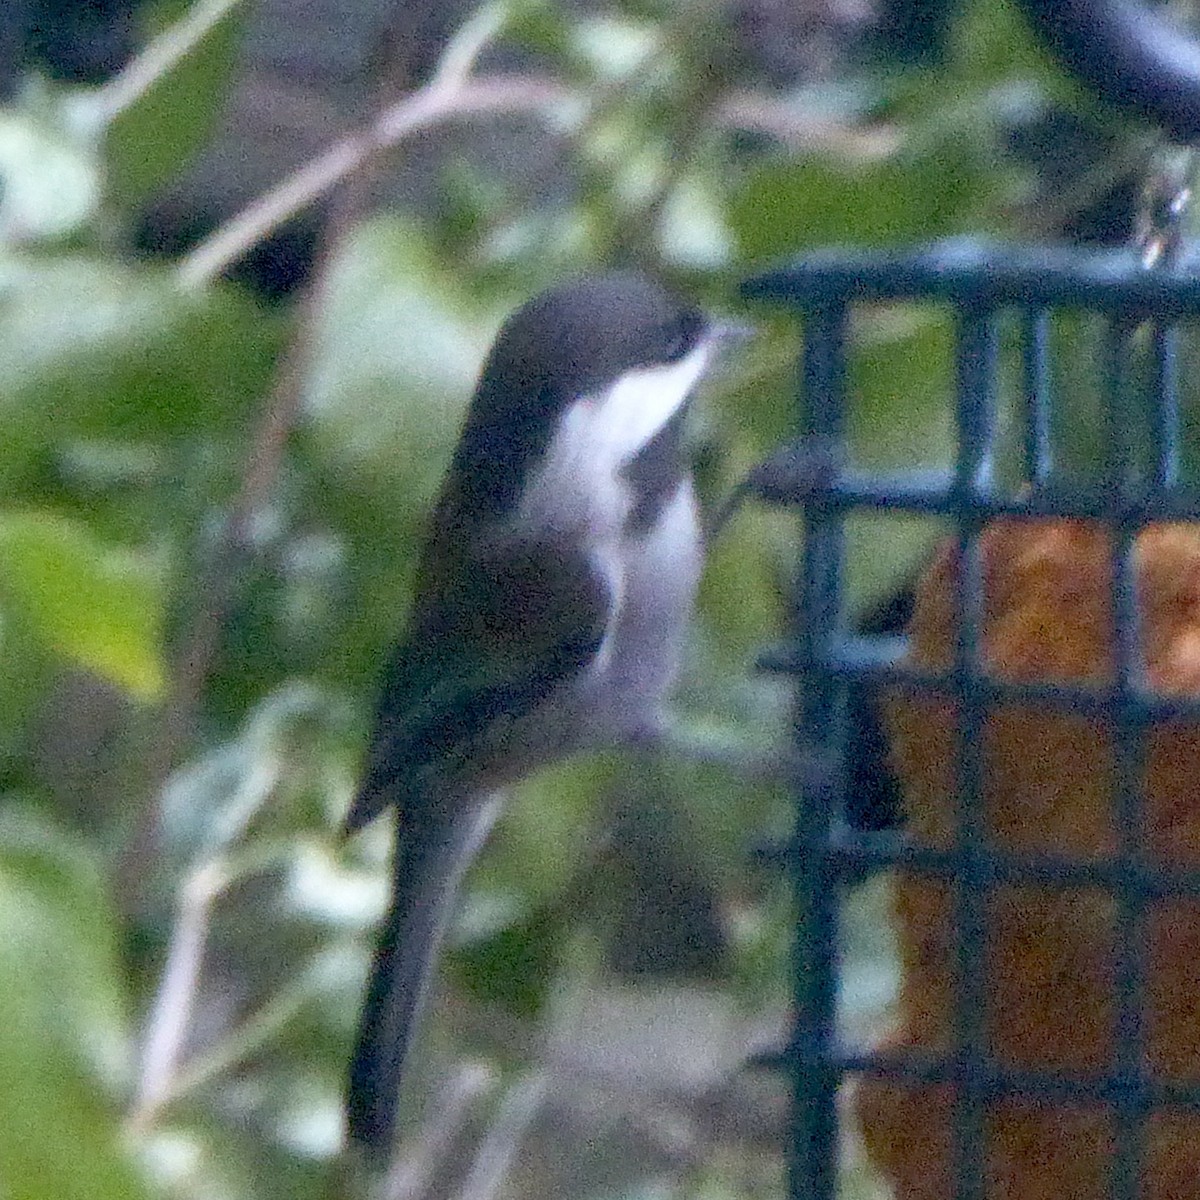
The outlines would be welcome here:
<svg viewBox="0 0 1200 1200">
<path fill-rule="evenodd" d="M 1104 684 L 1112 677 L 1112 539 L 1099 524 L 994 522 L 980 544 L 982 667 L 995 679 Z M 920 582 L 911 659 L 954 659 L 958 552 L 947 545 Z M 1200 692 L 1200 524 L 1159 524 L 1135 544 L 1148 683 Z M 893 761 L 922 845 L 955 836 L 955 703 L 911 692 L 887 701 Z M 983 740 L 983 823 L 1004 853 L 1102 860 L 1118 851 L 1110 722 L 1006 703 Z M 1200 865 L 1200 726 L 1162 722 L 1145 743 L 1145 851 L 1160 866 Z M 986 902 L 988 1049 L 1003 1067 L 1102 1076 L 1111 1063 L 1116 910 L 1096 886 L 997 886 Z M 954 1048 L 952 884 L 901 871 L 899 1019 L 880 1049 Z M 1162 1081 L 1200 1081 L 1200 901 L 1146 908 L 1147 1067 Z M 870 1079 L 857 1109 L 874 1160 L 898 1200 L 953 1194 L 953 1088 Z M 989 1200 L 1105 1200 L 1114 1130 L 1103 1104 L 1009 1097 L 988 1109 Z M 1200 1114 L 1152 1116 L 1144 1142 L 1145 1200 L 1200 1200 Z"/>
</svg>

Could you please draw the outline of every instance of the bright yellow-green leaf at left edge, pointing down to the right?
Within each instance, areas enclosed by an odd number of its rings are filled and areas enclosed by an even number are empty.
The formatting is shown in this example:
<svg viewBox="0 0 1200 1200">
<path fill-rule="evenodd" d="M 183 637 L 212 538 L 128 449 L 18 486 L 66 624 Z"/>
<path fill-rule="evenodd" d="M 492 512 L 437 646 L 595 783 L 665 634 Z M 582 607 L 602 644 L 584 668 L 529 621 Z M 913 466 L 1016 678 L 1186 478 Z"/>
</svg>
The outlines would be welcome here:
<svg viewBox="0 0 1200 1200">
<path fill-rule="evenodd" d="M 47 646 L 142 698 L 162 690 L 162 595 L 144 559 L 44 512 L 0 514 L 0 600 Z"/>
</svg>

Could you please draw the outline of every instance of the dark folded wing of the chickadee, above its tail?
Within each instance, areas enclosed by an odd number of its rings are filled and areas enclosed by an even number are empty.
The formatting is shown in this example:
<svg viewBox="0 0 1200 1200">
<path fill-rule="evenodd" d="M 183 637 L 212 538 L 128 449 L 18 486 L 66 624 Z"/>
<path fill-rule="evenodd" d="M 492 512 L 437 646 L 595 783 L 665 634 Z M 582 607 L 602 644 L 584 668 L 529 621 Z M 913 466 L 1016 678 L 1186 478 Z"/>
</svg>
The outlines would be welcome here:
<svg viewBox="0 0 1200 1200">
<path fill-rule="evenodd" d="M 427 769 L 469 770 L 480 737 L 583 671 L 612 620 L 611 581 L 570 542 L 496 545 L 457 574 L 389 662 L 347 830 L 403 806 Z"/>
</svg>

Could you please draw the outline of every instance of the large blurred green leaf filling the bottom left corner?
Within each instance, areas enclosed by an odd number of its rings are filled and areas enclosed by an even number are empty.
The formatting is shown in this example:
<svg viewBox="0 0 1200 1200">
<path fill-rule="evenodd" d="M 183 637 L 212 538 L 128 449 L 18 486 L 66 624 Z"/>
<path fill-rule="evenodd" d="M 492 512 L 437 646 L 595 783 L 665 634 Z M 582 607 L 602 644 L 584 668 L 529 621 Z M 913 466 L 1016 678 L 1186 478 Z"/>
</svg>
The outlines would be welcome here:
<svg viewBox="0 0 1200 1200">
<path fill-rule="evenodd" d="M 127 1073 L 115 922 L 90 858 L 0 823 L 0 1189 L 6 1200 L 144 1194 L 104 1087 Z"/>
</svg>

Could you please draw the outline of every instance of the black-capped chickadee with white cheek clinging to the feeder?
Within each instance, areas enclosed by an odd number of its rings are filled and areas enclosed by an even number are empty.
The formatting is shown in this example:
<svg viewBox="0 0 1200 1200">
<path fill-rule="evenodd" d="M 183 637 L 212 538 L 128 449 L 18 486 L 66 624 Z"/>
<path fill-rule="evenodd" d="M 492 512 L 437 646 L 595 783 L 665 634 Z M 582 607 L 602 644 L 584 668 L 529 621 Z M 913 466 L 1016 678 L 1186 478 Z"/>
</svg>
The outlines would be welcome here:
<svg viewBox="0 0 1200 1200">
<path fill-rule="evenodd" d="M 487 359 L 347 818 L 397 809 L 347 1097 L 368 1153 L 390 1146 L 494 790 L 659 721 L 702 557 L 682 421 L 724 332 L 640 275 L 599 275 L 520 308 Z"/>
</svg>

